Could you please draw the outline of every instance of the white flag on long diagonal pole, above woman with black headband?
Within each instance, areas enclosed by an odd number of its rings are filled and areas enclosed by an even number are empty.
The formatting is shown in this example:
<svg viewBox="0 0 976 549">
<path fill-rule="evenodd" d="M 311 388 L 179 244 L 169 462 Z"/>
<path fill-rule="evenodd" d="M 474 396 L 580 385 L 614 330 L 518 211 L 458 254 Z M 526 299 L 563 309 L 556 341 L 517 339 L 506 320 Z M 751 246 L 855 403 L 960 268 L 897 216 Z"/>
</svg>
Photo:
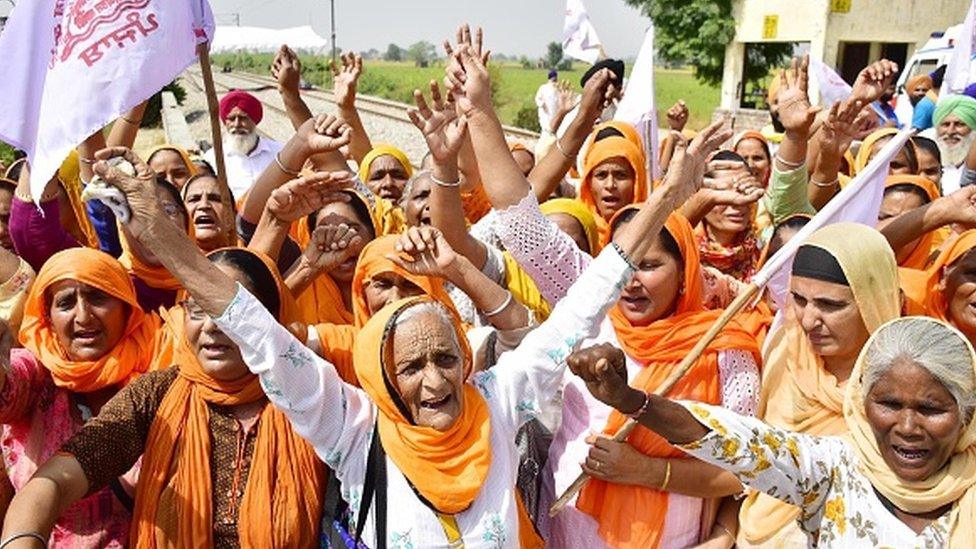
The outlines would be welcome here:
<svg viewBox="0 0 976 549">
<path fill-rule="evenodd" d="M 902 130 L 889 141 L 871 162 L 837 196 L 830 199 L 809 223 L 790 239 L 766 265 L 752 277 L 759 287 L 768 286 L 773 301 L 780 307 L 786 302 L 793 256 L 811 234 L 821 227 L 849 221 L 874 227 L 878 224 L 878 210 L 884 198 L 888 164 L 905 146 L 912 130 Z"/>
</svg>

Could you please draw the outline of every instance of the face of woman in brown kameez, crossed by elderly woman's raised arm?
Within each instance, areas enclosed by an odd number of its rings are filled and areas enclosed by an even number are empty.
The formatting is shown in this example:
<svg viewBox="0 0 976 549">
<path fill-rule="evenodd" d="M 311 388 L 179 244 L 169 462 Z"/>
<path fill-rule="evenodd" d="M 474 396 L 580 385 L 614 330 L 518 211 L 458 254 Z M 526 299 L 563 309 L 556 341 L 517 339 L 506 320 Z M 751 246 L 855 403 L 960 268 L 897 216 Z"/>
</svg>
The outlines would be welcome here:
<svg viewBox="0 0 976 549">
<path fill-rule="evenodd" d="M 222 263 L 217 263 L 217 267 L 252 293 L 255 292 L 247 277 L 234 267 Z M 217 328 L 217 324 L 193 301 L 193 298 L 188 298 L 183 303 L 183 307 L 186 311 L 184 324 L 186 337 L 203 371 L 221 381 L 234 381 L 248 375 L 241 350 Z"/>
</svg>

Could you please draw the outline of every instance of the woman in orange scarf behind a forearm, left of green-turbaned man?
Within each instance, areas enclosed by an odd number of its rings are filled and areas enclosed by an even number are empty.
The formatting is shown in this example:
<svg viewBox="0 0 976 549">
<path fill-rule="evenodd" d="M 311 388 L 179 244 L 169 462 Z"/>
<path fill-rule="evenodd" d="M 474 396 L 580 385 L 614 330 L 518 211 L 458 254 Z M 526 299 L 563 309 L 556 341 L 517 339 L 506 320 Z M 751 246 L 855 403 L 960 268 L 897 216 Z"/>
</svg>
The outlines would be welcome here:
<svg viewBox="0 0 976 549">
<path fill-rule="evenodd" d="M 878 212 L 878 228 L 884 223 L 901 214 L 921 208 L 922 206 L 940 198 L 942 193 L 929 179 L 920 175 L 889 175 L 885 180 L 884 199 Z M 932 258 L 933 251 L 938 250 L 946 240 L 947 228 L 929 231 L 921 238 L 895 253 L 898 266 L 906 269 L 924 269 Z"/>
</svg>

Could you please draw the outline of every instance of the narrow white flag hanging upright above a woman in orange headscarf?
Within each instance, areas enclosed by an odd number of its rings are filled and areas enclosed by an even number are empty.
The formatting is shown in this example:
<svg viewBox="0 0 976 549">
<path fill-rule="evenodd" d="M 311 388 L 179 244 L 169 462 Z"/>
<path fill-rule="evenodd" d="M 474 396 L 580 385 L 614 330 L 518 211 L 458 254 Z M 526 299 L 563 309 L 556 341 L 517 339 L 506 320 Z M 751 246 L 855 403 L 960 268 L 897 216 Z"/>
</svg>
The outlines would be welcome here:
<svg viewBox="0 0 976 549">
<path fill-rule="evenodd" d="M 650 150 L 647 157 L 651 170 L 648 172 L 653 179 L 661 178 L 661 167 L 658 165 L 658 126 L 657 103 L 654 99 L 654 23 L 644 34 L 644 44 L 641 45 L 634 70 L 627 80 L 624 98 L 617 105 L 614 120 L 632 124 L 641 134 L 645 145 Z"/>
</svg>

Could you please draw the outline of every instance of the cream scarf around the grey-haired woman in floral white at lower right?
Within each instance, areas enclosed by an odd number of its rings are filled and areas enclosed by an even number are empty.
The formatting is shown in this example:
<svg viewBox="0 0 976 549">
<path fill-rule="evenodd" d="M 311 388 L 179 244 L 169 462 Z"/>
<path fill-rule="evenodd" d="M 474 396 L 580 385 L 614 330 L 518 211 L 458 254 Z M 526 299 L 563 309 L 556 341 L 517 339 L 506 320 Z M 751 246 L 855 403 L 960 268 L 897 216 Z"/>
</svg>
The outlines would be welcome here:
<svg viewBox="0 0 976 549">
<path fill-rule="evenodd" d="M 909 513 L 928 513 L 953 503 L 949 515 L 949 547 L 968 547 L 976 540 L 976 422 L 969 424 L 960 433 L 952 457 L 944 467 L 925 480 L 906 481 L 900 479 L 885 463 L 878 449 L 878 442 L 868 422 L 864 410 L 865 398 L 862 387 L 867 352 L 874 337 L 889 324 L 903 322 L 913 317 L 895 319 L 881 326 L 875 336 L 864 345 L 851 373 L 844 399 L 844 417 L 849 430 L 848 440 L 858 455 L 860 470 L 878 492 L 883 494 L 895 507 Z M 914 317 L 916 320 L 919 317 Z M 935 319 L 927 319 L 933 329 L 947 330 L 958 338 L 976 365 L 973 347 L 955 328 Z"/>
</svg>

